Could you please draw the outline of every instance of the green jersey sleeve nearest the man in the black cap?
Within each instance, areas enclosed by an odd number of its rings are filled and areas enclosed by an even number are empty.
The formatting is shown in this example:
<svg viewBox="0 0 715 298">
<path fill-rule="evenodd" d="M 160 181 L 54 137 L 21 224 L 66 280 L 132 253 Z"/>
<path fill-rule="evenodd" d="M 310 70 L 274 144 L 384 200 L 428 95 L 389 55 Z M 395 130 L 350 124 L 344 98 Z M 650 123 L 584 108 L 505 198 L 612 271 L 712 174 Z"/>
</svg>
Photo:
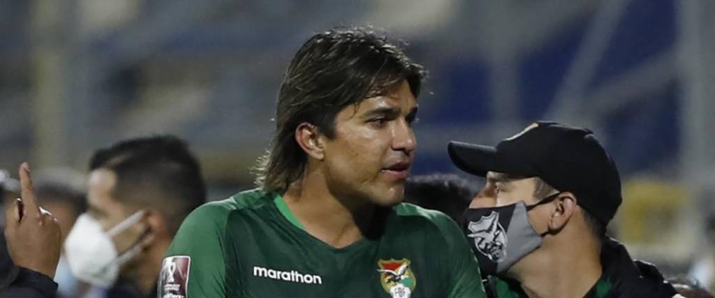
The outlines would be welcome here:
<svg viewBox="0 0 715 298">
<path fill-rule="evenodd" d="M 448 272 L 450 298 L 484 298 L 484 285 L 477 260 L 460 228 L 446 215 L 440 214 L 435 222 L 447 242 L 447 252 L 442 255 Z"/>
</svg>

